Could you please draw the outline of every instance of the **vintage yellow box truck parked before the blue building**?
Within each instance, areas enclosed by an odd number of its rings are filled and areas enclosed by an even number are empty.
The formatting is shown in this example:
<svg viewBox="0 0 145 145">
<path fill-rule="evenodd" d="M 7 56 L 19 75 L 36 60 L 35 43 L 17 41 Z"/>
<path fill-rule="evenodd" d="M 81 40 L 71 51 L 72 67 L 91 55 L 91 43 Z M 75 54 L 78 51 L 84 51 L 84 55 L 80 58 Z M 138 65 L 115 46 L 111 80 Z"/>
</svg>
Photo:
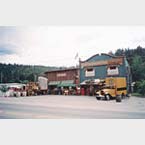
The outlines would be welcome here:
<svg viewBox="0 0 145 145">
<path fill-rule="evenodd" d="M 121 102 L 126 95 L 127 83 L 125 77 L 107 77 L 104 85 L 96 92 L 96 99 L 110 100 L 115 98 L 117 102 Z"/>
</svg>

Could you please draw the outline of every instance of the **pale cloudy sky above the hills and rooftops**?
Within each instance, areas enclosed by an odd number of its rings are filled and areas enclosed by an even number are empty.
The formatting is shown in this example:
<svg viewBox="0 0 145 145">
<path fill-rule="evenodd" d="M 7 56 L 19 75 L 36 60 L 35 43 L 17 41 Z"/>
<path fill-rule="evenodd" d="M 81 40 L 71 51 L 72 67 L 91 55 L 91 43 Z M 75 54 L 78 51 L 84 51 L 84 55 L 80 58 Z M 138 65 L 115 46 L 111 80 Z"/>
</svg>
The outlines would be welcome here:
<svg viewBox="0 0 145 145">
<path fill-rule="evenodd" d="M 145 47 L 145 26 L 0 26 L 1 63 L 69 67 L 139 45 Z"/>
</svg>

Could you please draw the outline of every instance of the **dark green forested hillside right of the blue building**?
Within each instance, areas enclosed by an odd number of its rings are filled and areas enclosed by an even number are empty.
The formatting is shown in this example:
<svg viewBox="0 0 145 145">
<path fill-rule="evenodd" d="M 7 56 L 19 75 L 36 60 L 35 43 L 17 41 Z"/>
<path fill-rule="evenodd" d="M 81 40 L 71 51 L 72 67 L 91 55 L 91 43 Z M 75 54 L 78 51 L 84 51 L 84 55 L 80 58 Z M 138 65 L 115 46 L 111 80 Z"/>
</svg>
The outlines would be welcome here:
<svg viewBox="0 0 145 145">
<path fill-rule="evenodd" d="M 135 82 L 135 91 L 145 95 L 145 48 L 138 46 L 136 49 L 118 49 L 115 55 L 125 55 Z"/>
</svg>

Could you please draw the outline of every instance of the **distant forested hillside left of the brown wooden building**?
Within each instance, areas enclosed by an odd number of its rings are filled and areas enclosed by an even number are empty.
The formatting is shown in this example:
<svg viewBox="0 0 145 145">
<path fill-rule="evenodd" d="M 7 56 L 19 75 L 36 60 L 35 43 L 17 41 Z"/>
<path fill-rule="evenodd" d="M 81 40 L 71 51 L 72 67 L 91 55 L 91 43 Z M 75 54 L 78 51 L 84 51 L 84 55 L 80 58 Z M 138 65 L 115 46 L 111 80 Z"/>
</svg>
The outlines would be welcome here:
<svg viewBox="0 0 145 145">
<path fill-rule="evenodd" d="M 1 83 L 26 83 L 37 81 L 37 77 L 45 71 L 57 69 L 57 67 L 31 66 L 17 64 L 0 63 L 0 82 Z"/>
</svg>

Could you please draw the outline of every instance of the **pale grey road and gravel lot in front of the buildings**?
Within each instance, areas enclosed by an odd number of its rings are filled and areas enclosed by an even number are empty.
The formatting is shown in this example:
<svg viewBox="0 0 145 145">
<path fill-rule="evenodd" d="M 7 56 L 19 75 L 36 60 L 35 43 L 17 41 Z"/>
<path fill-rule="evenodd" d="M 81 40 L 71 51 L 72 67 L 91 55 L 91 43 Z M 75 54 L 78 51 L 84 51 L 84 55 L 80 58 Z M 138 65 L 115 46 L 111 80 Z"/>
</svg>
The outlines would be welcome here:
<svg viewBox="0 0 145 145">
<path fill-rule="evenodd" d="M 143 119 L 145 99 L 130 97 L 121 103 L 90 96 L 0 97 L 0 119 Z"/>
</svg>

